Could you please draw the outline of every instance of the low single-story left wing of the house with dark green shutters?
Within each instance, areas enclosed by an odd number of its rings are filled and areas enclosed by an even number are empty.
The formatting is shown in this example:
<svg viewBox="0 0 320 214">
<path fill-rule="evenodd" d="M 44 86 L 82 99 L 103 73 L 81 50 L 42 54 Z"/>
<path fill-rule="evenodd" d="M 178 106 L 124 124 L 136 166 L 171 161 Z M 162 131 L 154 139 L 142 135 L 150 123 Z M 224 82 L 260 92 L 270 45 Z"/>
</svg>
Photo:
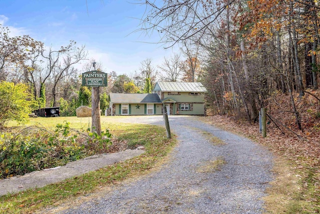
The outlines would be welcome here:
<svg viewBox="0 0 320 214">
<path fill-rule="evenodd" d="M 162 114 L 162 101 L 156 93 L 110 93 L 106 115 Z"/>
</svg>

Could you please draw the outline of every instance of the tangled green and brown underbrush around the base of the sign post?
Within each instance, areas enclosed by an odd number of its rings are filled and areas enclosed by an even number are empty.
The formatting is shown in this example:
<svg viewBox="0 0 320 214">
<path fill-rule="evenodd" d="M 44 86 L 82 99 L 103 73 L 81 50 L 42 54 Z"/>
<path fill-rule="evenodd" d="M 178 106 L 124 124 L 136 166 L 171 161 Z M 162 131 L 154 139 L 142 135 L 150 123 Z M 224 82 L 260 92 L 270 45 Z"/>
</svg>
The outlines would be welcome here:
<svg viewBox="0 0 320 214">
<path fill-rule="evenodd" d="M 112 136 L 72 130 L 68 122 L 53 131 L 43 127 L 15 126 L 0 133 L 0 178 L 65 165 L 83 157 L 108 152 Z"/>
</svg>

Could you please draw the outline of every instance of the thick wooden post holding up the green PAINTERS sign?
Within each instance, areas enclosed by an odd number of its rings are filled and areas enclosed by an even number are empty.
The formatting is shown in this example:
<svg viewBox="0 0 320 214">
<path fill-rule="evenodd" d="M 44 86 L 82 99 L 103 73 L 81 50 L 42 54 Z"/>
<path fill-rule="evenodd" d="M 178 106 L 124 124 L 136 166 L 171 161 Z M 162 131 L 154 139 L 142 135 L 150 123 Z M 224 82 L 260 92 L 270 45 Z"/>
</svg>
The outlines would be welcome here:
<svg viewBox="0 0 320 214">
<path fill-rule="evenodd" d="M 92 101 L 92 124 L 91 132 L 101 134 L 100 123 L 100 90 L 99 87 L 92 87 L 91 89 L 91 101 Z"/>
</svg>

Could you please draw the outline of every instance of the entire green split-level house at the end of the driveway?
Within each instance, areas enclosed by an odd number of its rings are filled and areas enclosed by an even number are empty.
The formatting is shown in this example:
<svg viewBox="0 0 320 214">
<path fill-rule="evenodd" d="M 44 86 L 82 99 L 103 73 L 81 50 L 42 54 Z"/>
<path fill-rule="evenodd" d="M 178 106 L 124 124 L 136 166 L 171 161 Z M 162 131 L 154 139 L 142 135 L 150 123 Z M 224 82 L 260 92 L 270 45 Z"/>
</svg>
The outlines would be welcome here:
<svg viewBox="0 0 320 214">
<path fill-rule="evenodd" d="M 200 82 L 158 81 L 153 93 L 110 93 L 106 115 L 205 115 L 205 88 Z"/>
</svg>

